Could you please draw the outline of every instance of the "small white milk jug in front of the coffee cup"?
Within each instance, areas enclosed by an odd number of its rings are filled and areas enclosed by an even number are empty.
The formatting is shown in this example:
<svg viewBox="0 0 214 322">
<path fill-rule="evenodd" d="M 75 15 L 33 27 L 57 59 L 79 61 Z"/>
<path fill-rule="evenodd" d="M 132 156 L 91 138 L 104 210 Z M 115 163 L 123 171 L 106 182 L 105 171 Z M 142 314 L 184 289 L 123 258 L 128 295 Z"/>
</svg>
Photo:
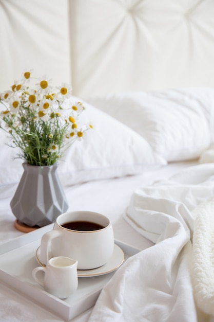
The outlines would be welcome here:
<svg viewBox="0 0 214 322">
<path fill-rule="evenodd" d="M 41 271 L 43 277 L 38 274 Z M 61 299 L 73 294 L 78 286 L 77 261 L 68 257 L 53 257 L 46 267 L 36 267 L 32 275 L 48 293 Z"/>
</svg>

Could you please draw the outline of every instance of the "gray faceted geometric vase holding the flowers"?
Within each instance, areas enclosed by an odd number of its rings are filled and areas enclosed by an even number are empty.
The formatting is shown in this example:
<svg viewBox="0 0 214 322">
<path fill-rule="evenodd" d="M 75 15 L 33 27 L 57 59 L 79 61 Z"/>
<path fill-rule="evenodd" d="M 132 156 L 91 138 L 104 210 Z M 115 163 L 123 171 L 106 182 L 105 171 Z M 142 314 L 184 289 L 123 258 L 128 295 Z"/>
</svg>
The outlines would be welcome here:
<svg viewBox="0 0 214 322">
<path fill-rule="evenodd" d="M 68 202 L 57 175 L 57 164 L 31 166 L 23 163 L 24 173 L 10 202 L 17 220 L 30 227 L 53 223 L 67 211 Z"/>
</svg>

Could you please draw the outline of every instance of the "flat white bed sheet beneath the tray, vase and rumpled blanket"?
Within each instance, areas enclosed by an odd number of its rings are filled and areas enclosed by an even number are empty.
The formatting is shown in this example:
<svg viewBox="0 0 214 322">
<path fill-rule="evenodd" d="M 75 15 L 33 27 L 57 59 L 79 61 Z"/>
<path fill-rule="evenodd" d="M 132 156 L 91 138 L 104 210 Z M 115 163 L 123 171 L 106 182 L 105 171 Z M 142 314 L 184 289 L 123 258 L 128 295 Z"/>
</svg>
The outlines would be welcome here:
<svg viewBox="0 0 214 322">
<path fill-rule="evenodd" d="M 115 239 L 121 240 L 139 249 L 153 245 L 151 241 L 139 234 L 123 218 L 124 211 L 130 203 L 135 188 L 151 184 L 153 181 L 163 180 L 184 167 L 197 162 L 171 163 L 160 169 L 147 171 L 142 175 L 126 176 L 111 180 L 92 181 L 81 185 L 65 186 L 65 193 L 69 202 L 69 210 L 91 210 L 108 216 L 113 224 Z M 0 243 L 5 243 L 23 233 L 14 228 L 14 216 L 10 210 L 10 200 L 16 186 L 0 187 Z M 41 309 L 34 303 L 17 296 L 6 287 L 0 290 L 0 320 L 1 321 L 61 321 L 50 312 Z M 85 322 L 91 310 L 85 312 L 73 321 Z"/>
</svg>

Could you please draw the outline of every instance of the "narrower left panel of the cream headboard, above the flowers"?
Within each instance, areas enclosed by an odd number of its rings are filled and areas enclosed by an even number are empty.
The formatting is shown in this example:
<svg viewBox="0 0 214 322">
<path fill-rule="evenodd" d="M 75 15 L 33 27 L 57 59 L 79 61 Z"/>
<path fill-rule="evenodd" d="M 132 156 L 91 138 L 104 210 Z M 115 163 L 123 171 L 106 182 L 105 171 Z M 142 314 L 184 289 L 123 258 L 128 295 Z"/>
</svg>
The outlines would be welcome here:
<svg viewBox="0 0 214 322">
<path fill-rule="evenodd" d="M 0 92 L 24 68 L 71 82 L 67 0 L 0 0 Z"/>
</svg>

